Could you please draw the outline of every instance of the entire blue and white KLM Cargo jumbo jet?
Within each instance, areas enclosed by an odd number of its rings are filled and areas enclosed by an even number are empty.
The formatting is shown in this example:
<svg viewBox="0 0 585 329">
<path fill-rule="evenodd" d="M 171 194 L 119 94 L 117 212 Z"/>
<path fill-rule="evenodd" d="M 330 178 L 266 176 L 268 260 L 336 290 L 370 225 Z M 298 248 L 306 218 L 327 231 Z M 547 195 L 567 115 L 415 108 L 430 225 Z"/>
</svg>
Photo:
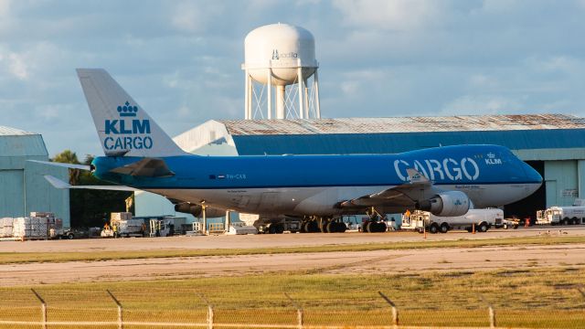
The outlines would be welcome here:
<svg viewBox="0 0 585 329">
<path fill-rule="evenodd" d="M 542 184 L 536 170 L 498 145 L 385 155 L 187 154 L 105 70 L 77 72 L 105 153 L 88 169 L 121 189 L 165 196 L 195 216 L 233 209 L 265 220 L 300 218 L 305 231 L 343 231 L 343 215 L 375 221 L 416 208 L 461 216 L 470 207 L 515 202 Z"/>
</svg>

